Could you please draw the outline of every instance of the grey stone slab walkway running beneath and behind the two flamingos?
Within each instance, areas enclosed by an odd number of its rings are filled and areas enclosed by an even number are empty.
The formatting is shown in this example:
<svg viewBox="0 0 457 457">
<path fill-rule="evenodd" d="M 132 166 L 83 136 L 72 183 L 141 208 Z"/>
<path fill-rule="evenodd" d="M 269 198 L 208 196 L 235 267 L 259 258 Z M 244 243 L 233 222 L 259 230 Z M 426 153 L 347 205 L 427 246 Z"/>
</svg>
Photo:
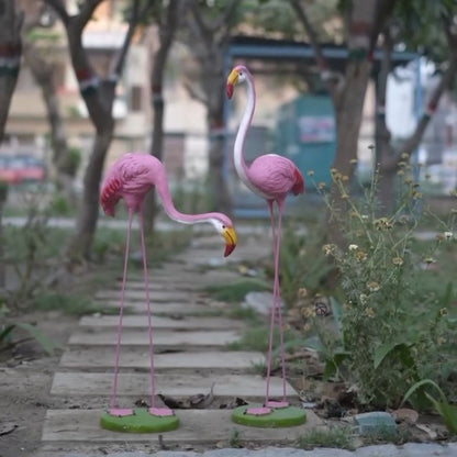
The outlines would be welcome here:
<svg viewBox="0 0 457 457">
<path fill-rule="evenodd" d="M 55 374 L 51 389 L 54 409 L 46 413 L 42 448 L 36 457 L 457 456 L 457 446 L 435 444 L 401 448 L 371 446 L 355 453 L 294 449 L 291 446 L 298 436 L 324 426 L 312 411 L 308 411 L 306 423 L 298 427 L 263 430 L 232 423 L 230 409 L 220 409 L 220 405 L 230 405 L 236 398 L 261 401 L 265 380 L 254 374 L 253 365 L 265 359 L 259 353 L 226 349 L 227 343 L 239 338 L 244 323 L 221 317 L 227 305 L 214 302 L 202 289 L 241 278 L 235 268 L 218 267 L 243 259 L 255 261 L 267 255 L 269 243 L 259 249 L 256 238 L 245 237 L 245 244 L 228 260 L 221 260 L 223 248 L 219 238 L 197 238 L 185 253 L 151 271 L 156 391 L 188 399 L 208 394 L 213 387 L 210 409 L 175 410 L 180 425 L 163 434 L 122 434 L 101 428 L 99 417 L 110 401 L 118 316 L 85 316 L 70 336 Z M 213 268 L 202 268 L 208 265 Z M 119 405 L 124 408 L 138 401 L 148 402 L 147 328 L 142 288 L 141 276 L 130 276 L 118 390 Z M 101 291 L 97 300 L 105 306 L 118 308 L 119 289 L 120 283 L 114 283 Z M 299 405 L 298 392 L 289 384 L 287 388 L 289 401 Z M 280 397 L 280 379 L 272 379 L 270 391 L 272 397 Z M 237 443 L 257 450 L 232 448 Z"/>
</svg>

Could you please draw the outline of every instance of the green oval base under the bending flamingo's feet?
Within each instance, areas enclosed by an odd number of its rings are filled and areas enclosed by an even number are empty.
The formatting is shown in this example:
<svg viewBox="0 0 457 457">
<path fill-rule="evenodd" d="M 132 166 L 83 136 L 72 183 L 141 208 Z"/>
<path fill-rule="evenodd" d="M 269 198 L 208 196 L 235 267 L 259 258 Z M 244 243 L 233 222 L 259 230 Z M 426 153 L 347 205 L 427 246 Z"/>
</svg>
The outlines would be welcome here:
<svg viewBox="0 0 457 457">
<path fill-rule="evenodd" d="M 177 415 L 158 417 L 149 414 L 146 409 L 135 409 L 134 413 L 134 415 L 118 417 L 105 412 L 100 417 L 100 426 L 112 432 L 157 433 L 169 432 L 179 425 Z"/>
</svg>

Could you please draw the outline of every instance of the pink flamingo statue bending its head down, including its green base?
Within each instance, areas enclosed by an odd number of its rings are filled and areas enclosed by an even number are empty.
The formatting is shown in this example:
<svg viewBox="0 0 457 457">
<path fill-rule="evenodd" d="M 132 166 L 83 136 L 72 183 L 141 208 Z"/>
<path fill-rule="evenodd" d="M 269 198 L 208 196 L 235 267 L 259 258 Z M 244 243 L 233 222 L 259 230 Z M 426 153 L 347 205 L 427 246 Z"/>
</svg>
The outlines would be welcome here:
<svg viewBox="0 0 457 457">
<path fill-rule="evenodd" d="M 168 189 L 168 181 L 164 165 L 152 155 L 144 153 L 127 153 L 120 157 L 108 169 L 100 196 L 100 203 L 102 205 L 102 209 L 105 214 L 113 216 L 116 203 L 119 202 L 119 200 L 123 199 L 129 212 L 111 401 L 110 409 L 101 417 L 101 425 L 104 428 L 116 431 L 160 432 L 163 430 L 169 430 L 163 428 L 163 424 L 166 424 L 166 420 L 160 420 L 174 415 L 172 411 L 167 408 L 155 406 L 153 325 L 151 315 L 149 285 L 146 265 L 146 250 L 142 212 L 144 197 L 153 187 L 155 187 L 158 197 L 161 200 L 164 210 L 170 219 L 182 224 L 197 224 L 203 222 L 211 223 L 218 231 L 218 233 L 220 233 L 225 239 L 225 257 L 228 256 L 236 246 L 236 234 L 233 228 L 232 221 L 225 214 L 215 212 L 203 214 L 183 214 L 175 208 Z M 140 412 L 143 419 L 135 417 L 135 415 L 138 415 L 137 410 L 119 409 L 116 406 L 118 370 L 122 333 L 122 317 L 124 309 L 124 291 L 127 272 L 130 235 L 134 213 L 138 214 L 141 232 L 151 364 L 151 408 L 146 413 L 144 411 Z M 125 417 L 129 416 L 134 417 L 133 425 L 129 420 L 125 420 Z M 147 425 L 145 425 L 144 422 Z M 138 425 L 138 423 L 141 426 Z M 172 426 L 172 428 L 175 428 L 176 426 L 177 422 Z"/>
</svg>

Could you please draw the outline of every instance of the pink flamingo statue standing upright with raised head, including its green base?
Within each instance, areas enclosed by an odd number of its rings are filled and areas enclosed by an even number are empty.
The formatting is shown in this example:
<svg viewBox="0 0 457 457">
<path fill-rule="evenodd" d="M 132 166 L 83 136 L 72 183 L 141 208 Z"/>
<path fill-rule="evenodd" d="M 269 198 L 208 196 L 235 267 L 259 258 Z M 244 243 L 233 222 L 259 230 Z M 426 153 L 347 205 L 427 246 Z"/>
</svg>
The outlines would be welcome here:
<svg viewBox="0 0 457 457">
<path fill-rule="evenodd" d="M 289 193 L 298 196 L 304 192 L 303 177 L 297 166 L 283 156 L 277 154 L 266 154 L 257 157 L 250 166 L 247 166 L 243 149 L 246 140 L 247 130 L 254 116 L 256 104 L 256 92 L 254 87 L 254 78 L 249 70 L 243 66 L 235 66 L 228 75 L 226 81 L 226 94 L 228 99 L 233 97 L 234 87 L 237 83 L 246 82 L 247 85 L 247 103 L 238 127 L 234 145 L 234 164 L 239 179 L 254 193 L 267 201 L 268 211 L 270 214 L 272 250 L 275 261 L 275 279 L 272 292 L 272 305 L 270 311 L 270 327 L 268 342 L 268 358 L 267 358 L 267 381 L 265 403 L 261 408 L 247 408 L 243 411 L 243 415 L 235 413 L 235 422 L 255 424 L 271 424 L 271 426 L 288 426 L 304 422 L 304 412 L 297 411 L 289 406 L 286 394 L 286 364 L 283 349 L 283 331 L 282 331 L 282 314 L 281 314 L 281 296 L 279 287 L 279 250 L 281 242 L 281 225 L 282 225 L 282 210 L 286 197 Z M 277 218 L 275 218 L 274 204 L 277 205 Z M 276 220 L 277 219 L 277 220 Z M 279 326 L 279 342 L 280 342 L 280 358 L 282 370 L 282 400 L 271 401 L 269 394 L 270 376 L 271 376 L 271 352 L 275 321 L 278 320 Z M 242 406 L 243 408 L 243 406 Z M 275 415 L 276 411 L 283 410 Z M 287 411 L 289 410 L 289 411 Z M 301 419 L 296 423 L 290 422 L 290 417 L 299 415 Z M 250 416 L 259 417 L 250 420 Z M 265 416 L 264 419 L 260 419 Z M 276 419 L 278 416 L 278 419 Z M 275 417 L 275 420 L 272 420 Z M 260 422 L 259 422 L 260 421 Z M 292 421 L 293 422 L 293 421 Z"/>
</svg>

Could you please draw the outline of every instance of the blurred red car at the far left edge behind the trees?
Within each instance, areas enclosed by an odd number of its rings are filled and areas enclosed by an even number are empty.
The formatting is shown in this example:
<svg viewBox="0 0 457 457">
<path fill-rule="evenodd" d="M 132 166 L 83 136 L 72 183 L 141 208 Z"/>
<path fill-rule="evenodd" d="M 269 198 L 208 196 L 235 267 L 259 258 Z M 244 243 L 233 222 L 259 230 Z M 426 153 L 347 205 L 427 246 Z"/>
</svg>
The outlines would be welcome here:
<svg viewBox="0 0 457 457">
<path fill-rule="evenodd" d="M 0 156 L 0 181 L 19 185 L 45 179 L 46 166 L 43 160 L 31 155 Z"/>
</svg>

